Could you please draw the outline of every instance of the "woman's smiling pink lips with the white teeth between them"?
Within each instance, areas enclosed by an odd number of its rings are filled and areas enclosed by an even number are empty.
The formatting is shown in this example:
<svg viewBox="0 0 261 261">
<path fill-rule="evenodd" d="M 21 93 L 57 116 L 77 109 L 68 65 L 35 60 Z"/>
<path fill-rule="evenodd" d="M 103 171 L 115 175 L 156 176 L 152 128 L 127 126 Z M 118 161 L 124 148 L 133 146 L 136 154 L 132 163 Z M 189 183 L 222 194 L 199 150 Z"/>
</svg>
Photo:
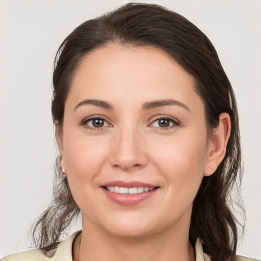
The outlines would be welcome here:
<svg viewBox="0 0 261 261">
<path fill-rule="evenodd" d="M 102 188 L 109 199 L 125 206 L 138 204 L 150 198 L 159 189 L 151 184 L 136 181 L 112 181 L 104 184 Z"/>
</svg>

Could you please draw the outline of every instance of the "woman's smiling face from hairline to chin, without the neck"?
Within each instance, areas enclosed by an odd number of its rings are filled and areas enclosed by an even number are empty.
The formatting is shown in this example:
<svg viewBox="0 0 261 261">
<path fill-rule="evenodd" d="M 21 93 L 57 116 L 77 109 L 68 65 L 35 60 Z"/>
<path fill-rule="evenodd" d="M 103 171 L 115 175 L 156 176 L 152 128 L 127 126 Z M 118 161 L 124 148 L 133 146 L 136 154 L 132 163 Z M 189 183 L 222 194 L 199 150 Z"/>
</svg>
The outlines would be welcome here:
<svg viewBox="0 0 261 261">
<path fill-rule="evenodd" d="M 84 225 L 121 237 L 188 230 L 211 149 L 193 85 L 152 47 L 110 44 L 83 59 L 57 137 Z"/>
</svg>

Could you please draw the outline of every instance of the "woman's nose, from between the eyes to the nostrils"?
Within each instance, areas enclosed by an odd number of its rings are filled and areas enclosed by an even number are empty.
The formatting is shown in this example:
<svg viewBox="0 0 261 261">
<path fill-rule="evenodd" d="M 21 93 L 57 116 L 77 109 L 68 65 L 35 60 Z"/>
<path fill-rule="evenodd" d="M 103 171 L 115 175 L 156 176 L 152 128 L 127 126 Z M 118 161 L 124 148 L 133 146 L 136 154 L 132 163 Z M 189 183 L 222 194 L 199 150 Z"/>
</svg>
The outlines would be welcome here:
<svg viewBox="0 0 261 261">
<path fill-rule="evenodd" d="M 125 171 L 142 168 L 148 162 L 144 138 L 134 126 L 118 129 L 112 140 L 111 152 L 111 165 Z"/>
</svg>

